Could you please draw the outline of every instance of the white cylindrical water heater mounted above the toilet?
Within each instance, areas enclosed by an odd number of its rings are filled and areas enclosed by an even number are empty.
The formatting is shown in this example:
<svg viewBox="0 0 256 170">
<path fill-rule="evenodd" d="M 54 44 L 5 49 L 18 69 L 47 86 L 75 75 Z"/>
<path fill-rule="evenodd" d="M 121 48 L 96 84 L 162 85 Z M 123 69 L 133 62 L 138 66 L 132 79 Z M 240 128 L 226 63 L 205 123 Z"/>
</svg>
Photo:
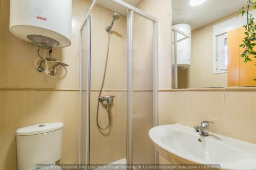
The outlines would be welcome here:
<svg viewBox="0 0 256 170">
<path fill-rule="evenodd" d="M 72 0 L 10 0 L 10 31 L 46 49 L 71 44 Z"/>
</svg>

